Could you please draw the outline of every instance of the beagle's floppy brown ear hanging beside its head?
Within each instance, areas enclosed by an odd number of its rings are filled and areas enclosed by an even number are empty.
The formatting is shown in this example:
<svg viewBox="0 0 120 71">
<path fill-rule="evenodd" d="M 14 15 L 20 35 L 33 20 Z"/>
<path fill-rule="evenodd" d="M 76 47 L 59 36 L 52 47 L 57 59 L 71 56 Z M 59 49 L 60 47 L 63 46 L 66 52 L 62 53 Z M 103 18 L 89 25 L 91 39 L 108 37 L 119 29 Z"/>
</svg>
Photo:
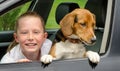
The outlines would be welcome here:
<svg viewBox="0 0 120 71">
<path fill-rule="evenodd" d="M 60 27 L 64 34 L 64 36 L 69 36 L 72 34 L 73 29 L 72 26 L 74 24 L 74 15 L 67 14 L 61 21 L 60 21 Z"/>
</svg>

